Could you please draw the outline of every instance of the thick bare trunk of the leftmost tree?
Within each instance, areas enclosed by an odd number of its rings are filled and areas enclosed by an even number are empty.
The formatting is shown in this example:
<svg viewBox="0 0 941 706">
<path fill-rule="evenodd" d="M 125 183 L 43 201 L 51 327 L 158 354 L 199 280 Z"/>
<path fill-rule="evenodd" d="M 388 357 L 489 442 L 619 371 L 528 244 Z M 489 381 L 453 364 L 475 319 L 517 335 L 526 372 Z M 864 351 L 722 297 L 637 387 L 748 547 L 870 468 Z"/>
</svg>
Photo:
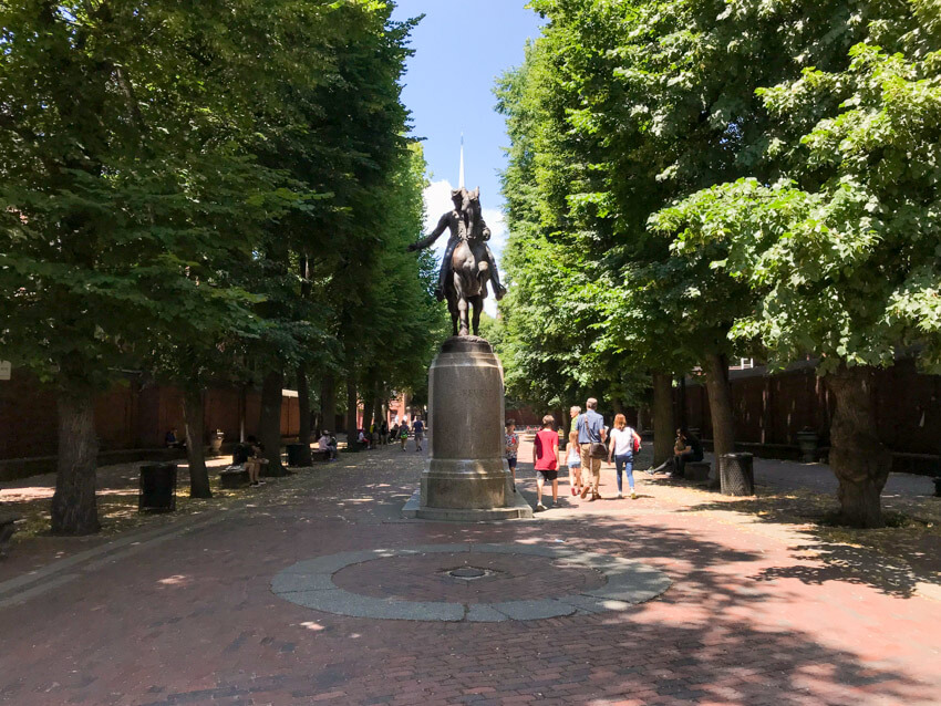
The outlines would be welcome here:
<svg viewBox="0 0 941 706">
<path fill-rule="evenodd" d="M 92 534 L 101 529 L 95 499 L 97 436 L 92 395 L 60 396 L 59 459 L 52 496 L 53 534 Z"/>
</svg>

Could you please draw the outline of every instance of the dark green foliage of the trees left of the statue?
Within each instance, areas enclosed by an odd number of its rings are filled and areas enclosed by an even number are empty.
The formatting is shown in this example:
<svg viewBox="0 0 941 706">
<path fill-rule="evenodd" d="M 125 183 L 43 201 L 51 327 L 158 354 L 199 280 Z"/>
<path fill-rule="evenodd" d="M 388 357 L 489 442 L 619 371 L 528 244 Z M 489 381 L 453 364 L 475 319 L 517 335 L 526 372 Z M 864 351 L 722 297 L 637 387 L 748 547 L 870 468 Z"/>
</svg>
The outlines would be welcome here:
<svg viewBox="0 0 941 706">
<path fill-rule="evenodd" d="M 6 357 L 68 387 L 76 370 L 100 385 L 139 366 L 195 381 L 245 356 L 335 353 L 338 255 L 397 248 L 420 227 L 414 181 L 409 226 L 360 216 L 413 172 L 397 83 L 409 25 L 390 12 L 0 7 Z M 397 264 L 417 279 L 414 260 Z"/>
</svg>

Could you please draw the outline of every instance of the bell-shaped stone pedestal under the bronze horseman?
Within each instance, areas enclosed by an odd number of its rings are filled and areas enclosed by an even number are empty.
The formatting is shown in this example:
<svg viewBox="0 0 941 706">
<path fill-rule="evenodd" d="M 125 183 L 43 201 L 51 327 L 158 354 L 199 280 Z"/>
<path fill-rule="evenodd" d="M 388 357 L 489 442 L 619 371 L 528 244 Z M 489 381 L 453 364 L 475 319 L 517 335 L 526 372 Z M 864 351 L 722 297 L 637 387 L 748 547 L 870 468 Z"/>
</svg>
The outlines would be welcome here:
<svg viewBox="0 0 941 706">
<path fill-rule="evenodd" d="M 445 341 L 428 372 L 428 460 L 406 517 L 531 517 L 504 457 L 503 367 L 477 336 Z"/>
</svg>

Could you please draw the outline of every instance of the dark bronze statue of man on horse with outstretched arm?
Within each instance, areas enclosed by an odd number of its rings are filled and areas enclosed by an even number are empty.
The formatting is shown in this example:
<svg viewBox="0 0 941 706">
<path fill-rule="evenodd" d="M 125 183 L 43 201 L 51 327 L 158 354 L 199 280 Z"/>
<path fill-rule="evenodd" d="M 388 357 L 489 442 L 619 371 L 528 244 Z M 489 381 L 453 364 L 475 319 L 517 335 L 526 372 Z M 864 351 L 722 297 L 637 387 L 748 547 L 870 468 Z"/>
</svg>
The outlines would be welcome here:
<svg viewBox="0 0 941 706">
<path fill-rule="evenodd" d="M 451 199 L 454 208 L 441 217 L 427 238 L 412 243 L 409 249 L 414 251 L 427 248 L 445 230 L 451 231 L 435 294 L 438 301 L 447 300 L 454 335 L 468 335 L 472 324 L 474 335 L 477 335 L 480 311 L 487 298 L 487 282 L 493 283 L 497 300 L 503 299 L 506 289 L 500 284 L 494 253 L 487 246 L 490 229 L 482 215 L 479 187 L 473 191 L 463 187 L 453 189 Z M 471 307 L 473 319 L 468 312 Z"/>
</svg>

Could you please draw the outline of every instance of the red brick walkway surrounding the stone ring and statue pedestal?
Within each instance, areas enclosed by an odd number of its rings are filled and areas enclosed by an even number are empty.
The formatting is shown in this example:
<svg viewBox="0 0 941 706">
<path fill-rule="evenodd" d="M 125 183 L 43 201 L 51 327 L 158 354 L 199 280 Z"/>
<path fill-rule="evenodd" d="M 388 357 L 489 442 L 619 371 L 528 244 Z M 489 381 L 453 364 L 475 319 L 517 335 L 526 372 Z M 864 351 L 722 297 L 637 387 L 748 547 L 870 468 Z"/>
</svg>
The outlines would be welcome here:
<svg viewBox="0 0 941 706">
<path fill-rule="evenodd" d="M 0 608 L 0 702 L 941 700 L 941 602 L 899 585 L 891 567 L 873 571 L 871 557 L 839 553 L 799 526 L 699 509 L 701 496 L 643 476 L 640 499 L 610 499 L 609 470 L 608 499 L 567 496 L 534 521 L 403 521 L 420 461 L 397 449 L 344 457 L 270 484 L 223 521 L 51 574 L 70 578 Z M 531 467 L 521 465 L 519 487 L 531 500 Z M 343 617 L 269 589 L 303 559 L 449 542 L 562 543 L 641 560 L 674 584 L 625 612 L 485 624 Z M 520 562 L 505 590 L 554 591 L 571 579 L 540 567 L 527 583 Z M 368 571 L 354 578 L 376 595 L 430 590 L 394 572 L 394 585 Z"/>
</svg>

